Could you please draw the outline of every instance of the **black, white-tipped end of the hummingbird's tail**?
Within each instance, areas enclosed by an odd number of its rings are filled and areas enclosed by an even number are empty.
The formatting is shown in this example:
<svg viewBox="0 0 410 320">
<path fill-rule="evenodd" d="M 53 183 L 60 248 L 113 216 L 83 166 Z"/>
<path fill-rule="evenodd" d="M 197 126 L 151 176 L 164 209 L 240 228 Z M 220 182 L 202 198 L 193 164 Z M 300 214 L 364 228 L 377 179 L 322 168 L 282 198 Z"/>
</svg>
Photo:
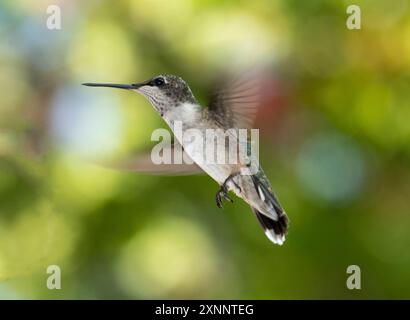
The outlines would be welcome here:
<svg viewBox="0 0 410 320">
<path fill-rule="evenodd" d="M 275 244 L 282 245 L 285 242 L 285 236 L 288 230 L 288 217 L 286 214 L 279 216 L 278 220 L 268 218 L 263 213 L 252 207 L 253 212 L 258 218 L 266 236 Z"/>
</svg>

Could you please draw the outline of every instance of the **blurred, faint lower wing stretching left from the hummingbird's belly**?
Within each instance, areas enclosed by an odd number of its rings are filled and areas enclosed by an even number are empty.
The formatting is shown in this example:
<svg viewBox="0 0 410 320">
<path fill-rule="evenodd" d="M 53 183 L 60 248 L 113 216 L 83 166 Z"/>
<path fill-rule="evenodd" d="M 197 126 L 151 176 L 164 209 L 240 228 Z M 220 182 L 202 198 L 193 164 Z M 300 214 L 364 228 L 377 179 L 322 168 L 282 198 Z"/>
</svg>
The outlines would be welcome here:
<svg viewBox="0 0 410 320">
<path fill-rule="evenodd" d="M 182 146 L 174 141 L 168 146 L 171 150 L 171 154 L 174 155 L 174 150 L 176 148 L 181 148 L 182 150 L 182 159 L 191 159 L 185 151 L 183 151 Z M 166 148 L 166 146 L 164 146 Z M 192 163 L 192 164 L 191 164 Z M 110 161 L 110 162 L 98 162 L 99 165 L 102 165 L 109 169 L 120 170 L 120 171 L 133 171 L 140 173 L 147 173 L 152 175 L 194 175 L 194 174 L 203 174 L 204 171 L 196 165 L 193 161 L 189 163 L 182 164 L 155 164 L 152 161 L 151 152 L 138 153 L 134 156 L 128 157 L 127 159 L 122 159 L 119 161 Z"/>
</svg>

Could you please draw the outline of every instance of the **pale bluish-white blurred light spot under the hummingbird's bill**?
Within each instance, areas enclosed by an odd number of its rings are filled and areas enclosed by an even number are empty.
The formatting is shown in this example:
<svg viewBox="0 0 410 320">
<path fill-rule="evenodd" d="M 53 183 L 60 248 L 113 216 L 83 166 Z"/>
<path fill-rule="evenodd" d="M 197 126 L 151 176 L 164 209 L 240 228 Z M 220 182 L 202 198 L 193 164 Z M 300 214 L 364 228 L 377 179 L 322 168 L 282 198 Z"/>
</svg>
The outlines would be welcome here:
<svg viewBox="0 0 410 320">
<path fill-rule="evenodd" d="M 105 156 L 118 150 L 123 119 L 113 96 L 99 90 L 60 90 L 53 103 L 51 129 L 59 148 L 82 156 Z"/>
</svg>

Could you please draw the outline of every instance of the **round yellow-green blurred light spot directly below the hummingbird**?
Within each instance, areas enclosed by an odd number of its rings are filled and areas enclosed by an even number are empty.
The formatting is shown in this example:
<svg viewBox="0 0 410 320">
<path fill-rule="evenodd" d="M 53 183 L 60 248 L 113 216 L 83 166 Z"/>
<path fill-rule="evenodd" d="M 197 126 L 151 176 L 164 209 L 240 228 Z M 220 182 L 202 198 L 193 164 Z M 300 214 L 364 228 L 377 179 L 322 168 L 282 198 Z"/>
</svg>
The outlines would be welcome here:
<svg viewBox="0 0 410 320">
<path fill-rule="evenodd" d="M 200 296 L 217 273 L 217 253 L 201 227 L 173 217 L 156 219 L 119 258 L 119 282 L 133 297 Z"/>
</svg>

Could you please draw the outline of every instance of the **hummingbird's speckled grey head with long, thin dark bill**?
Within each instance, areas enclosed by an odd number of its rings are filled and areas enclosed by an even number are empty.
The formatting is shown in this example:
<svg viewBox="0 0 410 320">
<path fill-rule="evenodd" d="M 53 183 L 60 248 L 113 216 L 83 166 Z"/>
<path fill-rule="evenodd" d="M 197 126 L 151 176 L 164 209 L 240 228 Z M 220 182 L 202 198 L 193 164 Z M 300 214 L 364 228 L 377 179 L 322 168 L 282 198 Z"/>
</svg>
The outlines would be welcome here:
<svg viewBox="0 0 410 320">
<path fill-rule="evenodd" d="M 110 87 L 138 92 L 145 96 L 163 116 L 170 109 L 184 103 L 196 104 L 188 84 L 174 75 L 158 75 L 147 81 L 134 84 L 83 83 L 90 87 Z"/>
</svg>

